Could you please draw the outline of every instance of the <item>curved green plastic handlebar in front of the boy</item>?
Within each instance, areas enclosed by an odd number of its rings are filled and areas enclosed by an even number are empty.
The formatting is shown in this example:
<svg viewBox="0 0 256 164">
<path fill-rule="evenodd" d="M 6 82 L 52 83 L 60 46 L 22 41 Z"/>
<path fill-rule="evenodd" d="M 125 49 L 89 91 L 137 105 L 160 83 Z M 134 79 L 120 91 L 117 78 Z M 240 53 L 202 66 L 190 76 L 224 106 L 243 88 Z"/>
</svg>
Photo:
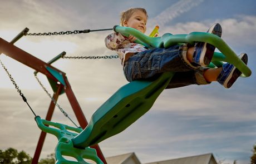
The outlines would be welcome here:
<svg viewBox="0 0 256 164">
<path fill-rule="evenodd" d="M 214 45 L 219 49 L 221 53 L 214 52 L 212 61 L 223 61 L 229 62 L 235 65 L 242 73 L 244 77 L 249 77 L 252 71 L 247 67 L 241 59 L 238 58 L 237 54 L 228 46 L 227 43 L 223 41 L 220 37 L 206 32 L 191 32 L 189 34 L 170 34 L 166 33 L 162 37 L 149 37 L 141 33 L 137 29 L 130 27 L 115 26 L 114 31 L 120 32 L 122 34 L 131 34 L 135 36 L 138 41 L 137 43 L 144 44 L 148 48 L 152 47 L 164 47 L 168 48 L 178 43 L 189 43 L 194 44 L 194 42 L 207 42 Z"/>
</svg>

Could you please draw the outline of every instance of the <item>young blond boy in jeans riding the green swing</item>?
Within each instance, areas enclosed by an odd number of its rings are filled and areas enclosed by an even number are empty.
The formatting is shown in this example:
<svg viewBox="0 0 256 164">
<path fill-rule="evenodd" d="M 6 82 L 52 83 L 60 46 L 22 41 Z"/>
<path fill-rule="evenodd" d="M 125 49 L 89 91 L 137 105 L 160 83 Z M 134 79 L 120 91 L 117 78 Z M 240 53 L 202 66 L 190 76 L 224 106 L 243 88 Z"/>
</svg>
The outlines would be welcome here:
<svg viewBox="0 0 256 164">
<path fill-rule="evenodd" d="M 144 8 L 131 8 L 121 13 L 121 26 L 146 32 L 147 12 Z M 207 31 L 221 37 L 221 26 L 213 24 Z M 169 48 L 147 49 L 134 41 L 134 36 L 125 37 L 121 33 L 111 33 L 106 37 L 106 47 L 119 55 L 127 81 L 146 79 L 163 72 L 175 72 L 166 88 L 188 85 L 207 85 L 218 81 L 230 88 L 242 74 L 233 64 L 225 63 L 220 68 L 207 68 L 215 47 L 209 43 L 196 42 L 194 45 L 182 44 Z M 246 53 L 239 58 L 247 64 Z"/>
</svg>

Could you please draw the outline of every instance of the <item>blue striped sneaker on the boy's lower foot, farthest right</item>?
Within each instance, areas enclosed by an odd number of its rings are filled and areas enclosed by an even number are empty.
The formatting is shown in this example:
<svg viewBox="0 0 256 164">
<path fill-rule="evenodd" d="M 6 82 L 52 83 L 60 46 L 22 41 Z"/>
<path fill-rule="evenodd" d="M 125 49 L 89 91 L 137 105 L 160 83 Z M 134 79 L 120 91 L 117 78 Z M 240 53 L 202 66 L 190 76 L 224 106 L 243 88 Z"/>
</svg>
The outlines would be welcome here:
<svg viewBox="0 0 256 164">
<path fill-rule="evenodd" d="M 239 58 L 247 64 L 248 56 L 246 53 L 241 53 Z M 220 72 L 217 81 L 225 88 L 230 88 L 237 78 L 242 74 L 239 69 L 235 68 L 233 64 L 225 63 L 222 66 L 223 70 Z"/>
</svg>

